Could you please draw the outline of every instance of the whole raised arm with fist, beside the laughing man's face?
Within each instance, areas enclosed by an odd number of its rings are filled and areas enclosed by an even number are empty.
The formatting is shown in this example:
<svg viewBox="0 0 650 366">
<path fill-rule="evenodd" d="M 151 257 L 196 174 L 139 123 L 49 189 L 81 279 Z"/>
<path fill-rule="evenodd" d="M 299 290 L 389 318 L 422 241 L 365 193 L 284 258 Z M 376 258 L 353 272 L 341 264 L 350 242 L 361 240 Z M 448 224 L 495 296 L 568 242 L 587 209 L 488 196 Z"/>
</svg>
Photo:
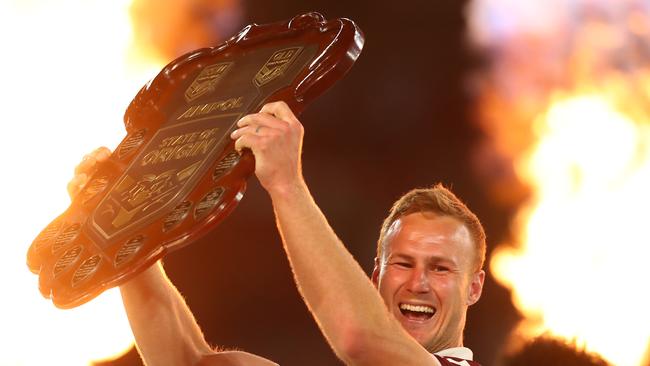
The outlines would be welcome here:
<svg viewBox="0 0 650 366">
<path fill-rule="evenodd" d="M 348 365 L 438 365 L 387 311 L 314 202 L 301 172 L 303 127 L 283 102 L 239 121 L 237 148 L 255 154 L 296 284 L 334 352 Z"/>
</svg>

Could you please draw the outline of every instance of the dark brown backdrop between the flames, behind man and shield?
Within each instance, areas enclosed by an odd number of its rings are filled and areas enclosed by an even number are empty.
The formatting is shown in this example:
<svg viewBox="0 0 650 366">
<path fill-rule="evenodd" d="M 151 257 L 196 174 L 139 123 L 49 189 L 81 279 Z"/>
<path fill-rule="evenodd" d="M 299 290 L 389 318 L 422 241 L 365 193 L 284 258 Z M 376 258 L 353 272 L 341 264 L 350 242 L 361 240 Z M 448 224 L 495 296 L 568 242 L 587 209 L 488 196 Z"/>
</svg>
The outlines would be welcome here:
<svg viewBox="0 0 650 366">
<path fill-rule="evenodd" d="M 489 254 L 507 233 L 510 209 L 474 173 L 483 136 L 467 87 L 481 64 L 466 41 L 460 0 L 262 1 L 242 3 L 241 26 L 307 11 L 353 19 L 366 42 L 349 74 L 300 116 L 303 169 L 316 202 L 370 273 L 379 227 L 392 202 L 442 182 L 484 223 Z M 239 27 L 241 28 L 241 27 Z M 213 345 L 282 365 L 337 365 L 293 283 L 271 202 L 255 179 L 235 212 L 206 238 L 165 259 L 165 268 Z M 465 345 L 498 362 L 518 315 L 488 272 L 470 308 Z M 139 365 L 131 351 L 106 365 Z"/>
</svg>

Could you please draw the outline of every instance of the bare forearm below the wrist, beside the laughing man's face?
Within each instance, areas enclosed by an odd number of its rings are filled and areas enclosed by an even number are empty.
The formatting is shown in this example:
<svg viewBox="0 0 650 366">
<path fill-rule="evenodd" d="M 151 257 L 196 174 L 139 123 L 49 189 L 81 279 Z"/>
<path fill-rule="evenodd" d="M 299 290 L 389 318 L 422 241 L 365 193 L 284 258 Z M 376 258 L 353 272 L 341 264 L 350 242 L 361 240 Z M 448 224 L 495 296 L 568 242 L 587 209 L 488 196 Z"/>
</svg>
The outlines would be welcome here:
<svg viewBox="0 0 650 366">
<path fill-rule="evenodd" d="M 348 364 L 374 365 L 423 357 L 423 349 L 390 316 L 306 185 L 275 191 L 271 198 L 298 289 L 336 354 Z M 375 347 L 382 352 L 373 352 Z"/>
</svg>

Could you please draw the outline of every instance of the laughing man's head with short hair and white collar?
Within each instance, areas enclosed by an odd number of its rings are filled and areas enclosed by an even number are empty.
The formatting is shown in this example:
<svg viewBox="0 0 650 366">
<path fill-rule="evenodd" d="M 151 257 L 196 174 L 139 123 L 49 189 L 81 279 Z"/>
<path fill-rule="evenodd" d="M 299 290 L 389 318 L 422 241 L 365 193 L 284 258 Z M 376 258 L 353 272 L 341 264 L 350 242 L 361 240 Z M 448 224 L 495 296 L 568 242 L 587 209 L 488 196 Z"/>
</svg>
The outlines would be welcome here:
<svg viewBox="0 0 650 366">
<path fill-rule="evenodd" d="M 474 244 L 477 243 L 477 244 Z M 476 216 L 441 185 L 400 198 L 384 221 L 372 282 L 389 311 L 425 349 L 472 359 L 465 315 L 485 273 L 485 234 Z"/>
</svg>

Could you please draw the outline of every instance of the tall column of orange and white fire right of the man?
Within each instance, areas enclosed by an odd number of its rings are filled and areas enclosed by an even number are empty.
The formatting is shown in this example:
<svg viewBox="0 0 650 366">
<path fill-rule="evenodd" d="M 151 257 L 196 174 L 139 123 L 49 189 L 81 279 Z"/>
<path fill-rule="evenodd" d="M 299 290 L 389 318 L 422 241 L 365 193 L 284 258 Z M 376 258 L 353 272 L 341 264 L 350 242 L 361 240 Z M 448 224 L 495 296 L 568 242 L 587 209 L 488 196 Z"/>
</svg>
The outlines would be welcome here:
<svg viewBox="0 0 650 366">
<path fill-rule="evenodd" d="M 518 244 L 497 247 L 490 270 L 512 290 L 524 337 L 548 332 L 643 365 L 650 7 L 528 4 L 475 0 L 469 11 L 474 43 L 492 57 L 479 78 L 481 123 L 531 189 L 513 221 Z"/>
</svg>

